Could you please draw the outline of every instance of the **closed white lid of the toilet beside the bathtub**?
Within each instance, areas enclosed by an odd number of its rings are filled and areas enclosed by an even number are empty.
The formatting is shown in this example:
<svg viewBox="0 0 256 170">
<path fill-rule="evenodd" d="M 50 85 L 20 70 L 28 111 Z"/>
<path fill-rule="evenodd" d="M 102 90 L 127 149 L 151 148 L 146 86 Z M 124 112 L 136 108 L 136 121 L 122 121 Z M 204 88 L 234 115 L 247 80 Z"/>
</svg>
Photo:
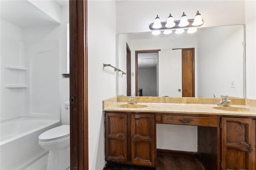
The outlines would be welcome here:
<svg viewBox="0 0 256 170">
<path fill-rule="evenodd" d="M 38 138 L 40 141 L 50 141 L 65 138 L 67 136 L 70 136 L 70 126 L 61 125 L 43 132 Z"/>
</svg>

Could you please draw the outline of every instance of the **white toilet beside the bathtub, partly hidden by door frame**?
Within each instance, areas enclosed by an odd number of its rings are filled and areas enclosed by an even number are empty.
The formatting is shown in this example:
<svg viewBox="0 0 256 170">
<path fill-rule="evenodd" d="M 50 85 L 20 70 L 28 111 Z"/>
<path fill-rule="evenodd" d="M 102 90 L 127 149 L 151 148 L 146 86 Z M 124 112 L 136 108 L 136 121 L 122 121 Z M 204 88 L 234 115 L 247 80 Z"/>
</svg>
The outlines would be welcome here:
<svg viewBox="0 0 256 170">
<path fill-rule="evenodd" d="M 69 102 L 65 102 L 66 119 L 70 115 Z M 66 170 L 70 166 L 70 125 L 47 130 L 39 135 L 39 144 L 49 150 L 47 170 Z"/>
</svg>

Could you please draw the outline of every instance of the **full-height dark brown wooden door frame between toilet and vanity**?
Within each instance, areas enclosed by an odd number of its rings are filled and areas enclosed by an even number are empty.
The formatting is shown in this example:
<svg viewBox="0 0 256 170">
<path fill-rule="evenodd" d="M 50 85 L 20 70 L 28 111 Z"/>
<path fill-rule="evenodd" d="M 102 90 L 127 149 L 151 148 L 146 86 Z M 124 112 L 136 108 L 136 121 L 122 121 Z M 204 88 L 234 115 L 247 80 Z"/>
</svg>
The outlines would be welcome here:
<svg viewBox="0 0 256 170">
<path fill-rule="evenodd" d="M 69 1 L 70 169 L 88 170 L 87 0 Z"/>
</svg>

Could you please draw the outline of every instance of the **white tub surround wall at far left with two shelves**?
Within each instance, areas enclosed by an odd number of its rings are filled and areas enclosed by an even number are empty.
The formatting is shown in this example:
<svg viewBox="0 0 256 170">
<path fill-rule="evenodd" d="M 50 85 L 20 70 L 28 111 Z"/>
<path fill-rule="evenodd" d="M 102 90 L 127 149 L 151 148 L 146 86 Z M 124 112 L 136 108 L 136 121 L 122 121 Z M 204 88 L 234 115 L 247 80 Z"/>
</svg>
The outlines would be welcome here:
<svg viewBox="0 0 256 170">
<path fill-rule="evenodd" d="M 0 120 L 23 116 L 24 88 L 5 88 L 8 84 L 25 84 L 24 73 L 18 69 L 6 69 L 6 66 L 24 67 L 24 45 L 22 43 L 22 28 L 5 20 L 1 23 L 1 107 Z"/>
</svg>

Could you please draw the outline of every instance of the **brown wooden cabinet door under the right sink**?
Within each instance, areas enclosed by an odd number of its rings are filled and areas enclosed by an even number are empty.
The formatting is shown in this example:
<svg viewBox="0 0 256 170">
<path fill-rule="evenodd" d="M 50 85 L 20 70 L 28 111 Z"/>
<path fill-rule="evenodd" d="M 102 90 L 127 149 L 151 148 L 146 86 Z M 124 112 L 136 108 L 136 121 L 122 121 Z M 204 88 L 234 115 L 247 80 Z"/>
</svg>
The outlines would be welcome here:
<svg viewBox="0 0 256 170">
<path fill-rule="evenodd" d="M 252 119 L 222 118 L 222 170 L 254 170 L 254 146 Z"/>
</svg>

